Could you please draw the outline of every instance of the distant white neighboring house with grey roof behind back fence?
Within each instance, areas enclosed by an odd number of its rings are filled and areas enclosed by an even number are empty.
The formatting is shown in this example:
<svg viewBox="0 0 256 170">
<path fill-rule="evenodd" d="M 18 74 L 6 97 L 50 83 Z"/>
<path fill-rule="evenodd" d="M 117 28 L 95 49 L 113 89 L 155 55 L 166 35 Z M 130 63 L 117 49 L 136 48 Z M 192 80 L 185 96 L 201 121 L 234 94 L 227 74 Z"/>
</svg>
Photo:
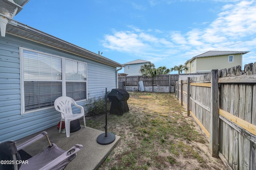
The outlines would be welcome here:
<svg viewBox="0 0 256 170">
<path fill-rule="evenodd" d="M 151 63 L 150 61 L 145 61 L 142 59 L 136 59 L 134 61 L 130 61 L 128 63 L 124 63 L 124 73 L 127 74 L 127 76 L 138 76 L 141 75 L 140 73 L 140 66 Z"/>
</svg>

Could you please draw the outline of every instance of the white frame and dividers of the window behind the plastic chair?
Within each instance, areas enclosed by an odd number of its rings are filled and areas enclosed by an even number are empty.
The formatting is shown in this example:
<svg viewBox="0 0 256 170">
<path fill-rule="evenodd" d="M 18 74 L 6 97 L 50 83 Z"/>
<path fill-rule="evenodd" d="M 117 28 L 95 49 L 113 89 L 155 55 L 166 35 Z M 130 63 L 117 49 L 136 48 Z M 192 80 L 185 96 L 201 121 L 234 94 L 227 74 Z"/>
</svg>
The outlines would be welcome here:
<svg viewBox="0 0 256 170">
<path fill-rule="evenodd" d="M 67 59 L 65 57 L 60 57 L 57 55 L 52 55 L 50 53 L 45 53 L 45 52 L 40 52 L 40 51 L 36 51 L 36 50 L 32 50 L 32 49 L 27 49 L 24 47 L 20 47 L 20 97 L 21 97 L 21 115 L 27 114 L 27 113 L 34 113 L 37 111 L 43 111 L 46 109 L 51 109 L 54 108 L 54 106 L 49 106 L 49 107 L 44 107 L 44 108 L 39 108 L 39 109 L 33 109 L 33 110 L 29 110 L 29 111 L 25 111 L 25 94 L 24 94 L 24 69 L 23 69 L 23 50 L 27 50 L 27 51 L 32 51 L 35 53 L 41 53 L 41 54 L 45 54 L 45 55 L 50 55 L 53 57 L 59 57 L 61 58 L 61 62 L 62 62 L 62 79 L 61 80 L 54 80 L 55 82 L 62 82 L 62 96 L 66 96 L 66 82 L 85 82 L 86 83 L 86 94 L 85 97 L 86 99 L 82 99 L 76 102 L 81 102 L 81 101 L 86 101 L 88 99 L 88 77 L 87 77 L 87 63 L 82 62 L 82 61 L 78 61 L 78 60 L 74 60 L 74 59 Z M 70 81 L 70 80 L 66 80 L 66 68 L 65 68 L 65 61 L 67 60 L 71 60 L 71 61 L 76 61 L 76 62 L 80 62 L 80 63 L 84 63 L 86 64 L 86 80 L 85 81 Z M 33 81 L 33 80 L 31 80 Z M 38 81 L 38 80 L 36 80 Z M 40 80 L 44 81 L 44 80 Z M 46 81 L 46 80 L 45 80 Z"/>
</svg>

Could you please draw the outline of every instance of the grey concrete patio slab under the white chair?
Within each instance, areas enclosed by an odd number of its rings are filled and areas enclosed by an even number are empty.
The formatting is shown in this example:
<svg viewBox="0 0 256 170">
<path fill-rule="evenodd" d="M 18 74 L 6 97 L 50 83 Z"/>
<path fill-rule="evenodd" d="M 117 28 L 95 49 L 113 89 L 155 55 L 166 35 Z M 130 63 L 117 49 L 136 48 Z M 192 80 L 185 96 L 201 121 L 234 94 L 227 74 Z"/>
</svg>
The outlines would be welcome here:
<svg viewBox="0 0 256 170">
<path fill-rule="evenodd" d="M 101 145 L 98 144 L 96 140 L 98 135 L 105 132 L 90 127 L 84 128 L 82 125 L 80 130 L 70 133 L 70 137 L 68 138 L 66 137 L 66 134 L 59 133 L 57 127 L 48 128 L 44 131 L 48 133 L 51 143 L 55 143 L 59 148 L 64 150 L 70 149 L 75 144 L 83 145 L 83 148 L 77 152 L 76 158 L 72 160 L 68 166 L 66 166 L 66 170 L 97 169 L 100 164 L 104 162 L 110 151 L 116 146 L 121 138 L 120 136 L 116 135 L 116 139 L 113 143 L 108 145 Z M 17 140 L 17 146 L 39 133 L 40 132 Z M 47 146 L 48 142 L 46 138 L 41 138 L 40 140 L 24 148 L 24 150 L 30 155 L 34 156 L 42 152 L 42 150 L 44 150 L 44 148 Z"/>
</svg>

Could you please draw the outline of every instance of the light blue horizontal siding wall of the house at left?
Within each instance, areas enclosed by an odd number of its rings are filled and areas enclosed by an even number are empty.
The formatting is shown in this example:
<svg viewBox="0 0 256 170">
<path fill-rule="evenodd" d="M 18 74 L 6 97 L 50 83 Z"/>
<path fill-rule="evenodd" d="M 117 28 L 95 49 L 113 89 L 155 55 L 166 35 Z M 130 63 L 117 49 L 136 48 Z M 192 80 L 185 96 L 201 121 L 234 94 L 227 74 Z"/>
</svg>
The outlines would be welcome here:
<svg viewBox="0 0 256 170">
<path fill-rule="evenodd" d="M 106 87 L 108 91 L 116 88 L 116 67 L 6 34 L 0 37 L 0 142 L 56 126 L 61 117 L 54 107 L 21 115 L 19 47 L 86 62 L 87 98 L 104 95 Z M 84 106 L 86 101 L 78 104 Z"/>
</svg>

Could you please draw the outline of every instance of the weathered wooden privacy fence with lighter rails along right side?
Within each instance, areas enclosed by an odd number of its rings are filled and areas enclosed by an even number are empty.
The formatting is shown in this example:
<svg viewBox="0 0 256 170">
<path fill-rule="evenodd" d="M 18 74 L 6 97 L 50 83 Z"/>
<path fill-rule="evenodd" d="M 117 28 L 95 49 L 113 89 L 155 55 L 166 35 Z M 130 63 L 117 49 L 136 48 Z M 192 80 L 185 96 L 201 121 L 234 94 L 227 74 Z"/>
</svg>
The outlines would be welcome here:
<svg viewBox="0 0 256 170">
<path fill-rule="evenodd" d="M 175 94 L 229 169 L 256 170 L 256 62 L 177 81 Z"/>
</svg>

